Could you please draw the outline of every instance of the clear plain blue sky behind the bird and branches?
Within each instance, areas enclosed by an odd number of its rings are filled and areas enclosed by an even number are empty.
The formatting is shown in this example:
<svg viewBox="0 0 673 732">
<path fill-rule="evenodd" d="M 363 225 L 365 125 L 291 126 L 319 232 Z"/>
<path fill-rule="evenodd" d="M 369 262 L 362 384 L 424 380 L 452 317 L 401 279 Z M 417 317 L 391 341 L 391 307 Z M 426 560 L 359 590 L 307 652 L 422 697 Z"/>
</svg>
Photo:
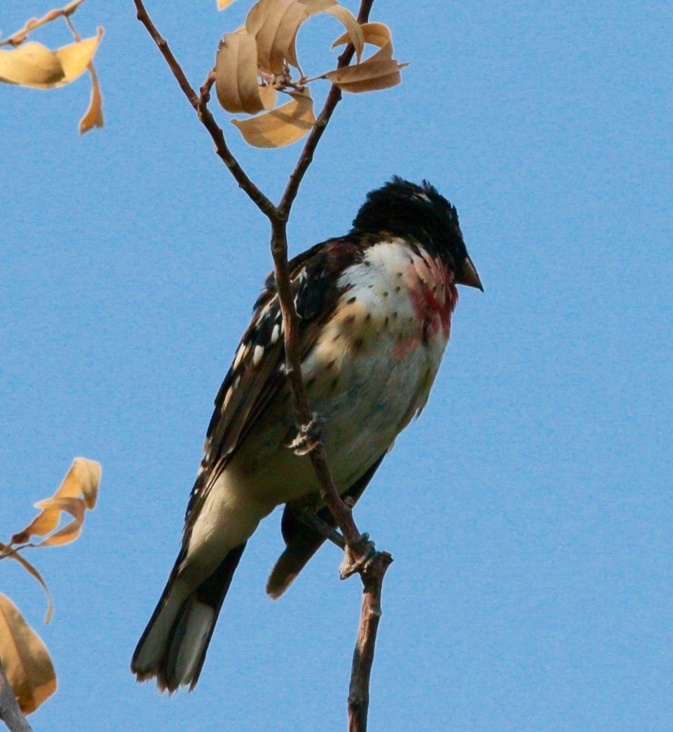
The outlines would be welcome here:
<svg viewBox="0 0 673 732">
<path fill-rule="evenodd" d="M 247 7 L 148 9 L 198 85 Z M 48 9 L 10 0 L 0 27 Z M 377 0 L 372 19 L 412 64 L 402 86 L 342 102 L 291 249 L 347 231 L 391 174 L 427 178 L 457 206 L 486 291 L 462 291 L 429 405 L 356 511 L 395 558 L 370 726 L 671 728 L 673 8 Z M 84 79 L 0 89 L 2 534 L 75 455 L 104 471 L 80 540 L 32 557 L 49 627 L 37 585 L 0 565 L 59 676 L 31 722 L 343 728 L 361 586 L 324 548 L 268 600 L 278 514 L 249 542 L 197 690 L 169 701 L 128 671 L 271 258 L 266 220 L 132 3 L 87 0 L 75 24 L 105 27 L 104 130 L 77 135 Z M 312 21 L 300 59 L 327 69 L 340 32 Z M 247 149 L 217 113 L 277 198 L 299 147 Z"/>
</svg>

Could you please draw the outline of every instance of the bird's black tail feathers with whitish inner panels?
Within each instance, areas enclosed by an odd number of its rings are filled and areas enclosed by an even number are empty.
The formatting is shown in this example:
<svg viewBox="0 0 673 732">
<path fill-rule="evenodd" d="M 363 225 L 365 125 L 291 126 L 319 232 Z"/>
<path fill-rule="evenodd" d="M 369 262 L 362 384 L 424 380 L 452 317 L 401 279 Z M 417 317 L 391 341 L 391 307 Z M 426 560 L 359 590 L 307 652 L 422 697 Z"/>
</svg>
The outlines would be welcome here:
<svg viewBox="0 0 673 732">
<path fill-rule="evenodd" d="M 178 557 L 156 610 L 131 661 L 138 681 L 157 679 L 160 691 L 174 692 L 198 681 L 219 610 L 245 549 L 230 550 L 219 567 L 196 589 L 180 571 Z"/>
</svg>

